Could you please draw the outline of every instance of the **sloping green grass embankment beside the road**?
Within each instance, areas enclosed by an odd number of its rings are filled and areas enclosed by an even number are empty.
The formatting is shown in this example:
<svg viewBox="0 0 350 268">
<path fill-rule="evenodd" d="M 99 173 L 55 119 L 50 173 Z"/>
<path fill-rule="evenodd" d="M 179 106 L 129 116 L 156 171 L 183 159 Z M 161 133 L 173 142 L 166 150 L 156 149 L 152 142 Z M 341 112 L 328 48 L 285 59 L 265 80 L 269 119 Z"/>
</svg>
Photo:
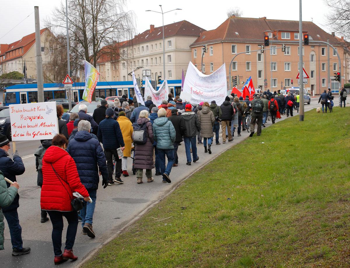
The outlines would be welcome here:
<svg viewBox="0 0 350 268">
<path fill-rule="evenodd" d="M 349 267 L 349 112 L 234 146 L 84 267 Z"/>
</svg>

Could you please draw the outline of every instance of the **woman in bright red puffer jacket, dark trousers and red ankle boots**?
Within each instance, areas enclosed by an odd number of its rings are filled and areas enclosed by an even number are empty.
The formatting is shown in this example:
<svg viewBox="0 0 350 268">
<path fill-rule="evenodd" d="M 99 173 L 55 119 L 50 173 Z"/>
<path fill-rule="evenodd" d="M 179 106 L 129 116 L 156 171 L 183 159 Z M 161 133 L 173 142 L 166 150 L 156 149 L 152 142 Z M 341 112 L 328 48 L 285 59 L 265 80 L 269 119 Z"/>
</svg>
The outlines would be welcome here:
<svg viewBox="0 0 350 268">
<path fill-rule="evenodd" d="M 71 200 L 73 192 L 79 192 L 85 201 L 89 193 L 80 182 L 76 164 L 65 151 L 68 140 L 63 134 L 52 139 L 42 160 L 43 185 L 41 189 L 41 209 L 46 210 L 52 223 L 52 244 L 55 252 L 55 265 L 68 259 L 76 260 L 72 248 L 78 227 L 78 213 L 73 211 Z M 63 216 L 68 221 L 66 243 L 62 255 Z"/>
</svg>

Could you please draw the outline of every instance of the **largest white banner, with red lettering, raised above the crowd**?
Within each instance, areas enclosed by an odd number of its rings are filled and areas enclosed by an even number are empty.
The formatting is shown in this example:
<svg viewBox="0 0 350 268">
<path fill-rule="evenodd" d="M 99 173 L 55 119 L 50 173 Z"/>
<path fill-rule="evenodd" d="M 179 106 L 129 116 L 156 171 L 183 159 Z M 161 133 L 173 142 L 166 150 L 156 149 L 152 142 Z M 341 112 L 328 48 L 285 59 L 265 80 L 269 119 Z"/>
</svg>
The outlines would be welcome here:
<svg viewBox="0 0 350 268">
<path fill-rule="evenodd" d="M 193 64 L 188 64 L 183 91 L 180 94 L 182 101 L 199 104 L 201 101 L 212 100 L 221 105 L 227 96 L 225 63 L 210 75 L 204 75 Z"/>
</svg>

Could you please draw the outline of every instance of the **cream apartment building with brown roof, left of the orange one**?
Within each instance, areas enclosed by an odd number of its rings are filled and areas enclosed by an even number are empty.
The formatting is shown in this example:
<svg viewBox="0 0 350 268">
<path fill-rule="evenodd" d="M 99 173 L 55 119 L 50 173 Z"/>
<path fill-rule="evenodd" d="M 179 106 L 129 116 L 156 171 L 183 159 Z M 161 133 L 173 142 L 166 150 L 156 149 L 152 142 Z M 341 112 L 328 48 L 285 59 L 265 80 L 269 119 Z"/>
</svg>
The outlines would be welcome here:
<svg viewBox="0 0 350 268">
<path fill-rule="evenodd" d="M 204 29 L 186 20 L 164 25 L 150 25 L 149 29 L 135 35 L 120 47 L 119 80 L 131 80 L 128 73 L 137 67 L 137 78 L 142 78 L 142 70 L 151 70 L 151 79 L 181 79 L 182 69 L 186 70 L 191 60 L 192 44 Z M 163 51 L 165 51 L 165 73 L 163 73 Z"/>
</svg>

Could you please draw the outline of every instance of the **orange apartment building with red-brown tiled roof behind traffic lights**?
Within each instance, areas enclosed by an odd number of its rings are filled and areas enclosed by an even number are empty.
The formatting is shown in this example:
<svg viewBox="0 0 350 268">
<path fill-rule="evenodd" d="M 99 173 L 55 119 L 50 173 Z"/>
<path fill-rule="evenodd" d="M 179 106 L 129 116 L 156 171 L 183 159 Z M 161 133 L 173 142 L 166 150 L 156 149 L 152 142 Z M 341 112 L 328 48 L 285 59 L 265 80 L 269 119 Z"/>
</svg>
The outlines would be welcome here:
<svg viewBox="0 0 350 268">
<path fill-rule="evenodd" d="M 332 34 L 326 33 L 313 22 L 303 22 L 303 34 L 309 35 L 309 45 L 302 49 L 303 67 L 309 75 L 307 84 L 304 84 L 311 94 L 320 94 L 328 86 L 338 89 L 338 83 L 331 78 L 339 70 L 336 52 L 329 48 L 330 64 L 328 66 L 328 47 L 325 44 L 313 41 L 325 41 L 336 47 L 341 57 L 342 85 L 350 79 L 349 57 L 347 42 Z M 269 36 L 271 50 L 259 50 L 264 44 L 264 36 Z M 222 64 L 226 65 L 229 76 L 230 62 L 231 75 L 239 76 L 240 82 L 245 82 L 249 76 L 253 79 L 256 88 L 262 90 L 287 89 L 298 86 L 296 79 L 299 72 L 299 21 L 269 20 L 266 17 L 259 19 L 231 16 L 214 30 L 203 31 L 190 47 L 192 62 L 201 70 L 203 45 L 207 52 L 203 56 L 203 72 L 210 74 Z M 303 37 L 301 37 L 303 38 Z M 286 49 L 282 52 L 283 41 Z M 294 41 L 294 42 L 293 42 Z M 243 54 L 239 54 L 243 52 Z M 239 55 L 238 55 L 239 54 Z M 328 77 L 328 69 L 330 77 Z M 228 78 L 229 79 L 229 78 Z M 229 81 L 228 81 L 229 85 Z M 239 88 L 241 85 L 239 85 Z"/>
</svg>

